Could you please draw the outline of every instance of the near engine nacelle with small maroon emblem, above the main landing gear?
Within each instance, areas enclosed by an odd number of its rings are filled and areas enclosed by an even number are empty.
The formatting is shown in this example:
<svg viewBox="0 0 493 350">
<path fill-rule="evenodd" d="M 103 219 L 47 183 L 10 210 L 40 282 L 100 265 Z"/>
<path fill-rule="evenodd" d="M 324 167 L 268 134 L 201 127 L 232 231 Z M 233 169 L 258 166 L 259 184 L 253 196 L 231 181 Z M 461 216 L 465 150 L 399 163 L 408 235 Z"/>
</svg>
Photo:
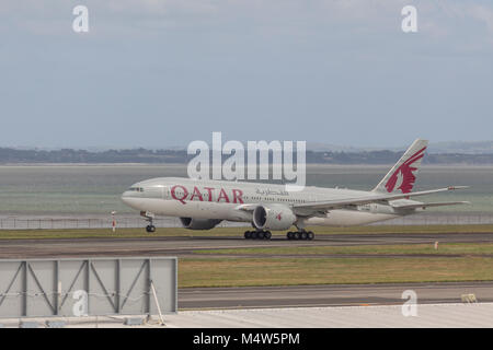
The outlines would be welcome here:
<svg viewBox="0 0 493 350">
<path fill-rule="evenodd" d="M 259 206 L 253 210 L 253 225 L 259 230 L 288 230 L 295 221 L 293 210 L 282 205 Z"/>
</svg>

